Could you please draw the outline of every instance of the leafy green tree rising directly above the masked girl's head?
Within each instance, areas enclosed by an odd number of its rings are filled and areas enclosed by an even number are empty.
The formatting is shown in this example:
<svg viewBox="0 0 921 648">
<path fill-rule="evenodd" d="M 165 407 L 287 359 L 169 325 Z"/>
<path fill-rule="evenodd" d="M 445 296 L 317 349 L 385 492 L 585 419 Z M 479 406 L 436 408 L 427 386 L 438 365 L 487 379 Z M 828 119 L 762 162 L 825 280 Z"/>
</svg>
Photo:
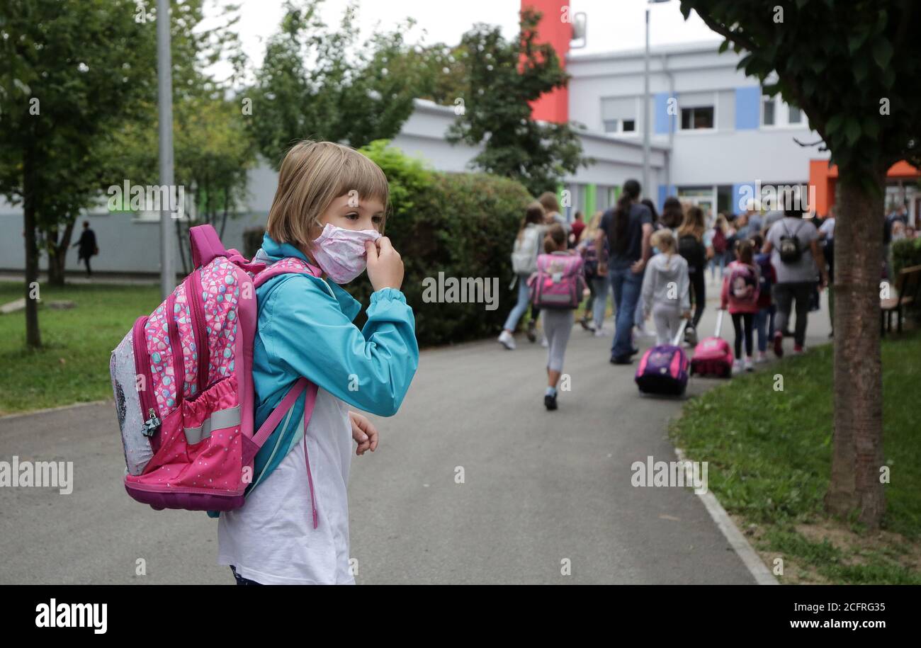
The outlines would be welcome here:
<svg viewBox="0 0 921 648">
<path fill-rule="evenodd" d="M 319 0 L 287 0 L 286 14 L 268 41 L 252 99 L 251 133 L 262 155 L 281 163 L 289 145 L 313 138 L 362 146 L 400 132 L 413 112 L 414 77 L 405 69 L 397 32 L 376 34 L 358 46 L 355 6 L 338 30 L 318 16 Z"/>
</svg>

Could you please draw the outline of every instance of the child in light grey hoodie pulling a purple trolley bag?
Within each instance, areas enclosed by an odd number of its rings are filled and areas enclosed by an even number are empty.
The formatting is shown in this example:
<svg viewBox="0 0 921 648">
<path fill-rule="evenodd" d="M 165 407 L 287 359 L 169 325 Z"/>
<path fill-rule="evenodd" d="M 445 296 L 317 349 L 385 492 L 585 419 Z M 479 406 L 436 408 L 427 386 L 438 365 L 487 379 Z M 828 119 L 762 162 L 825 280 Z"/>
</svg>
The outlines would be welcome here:
<svg viewBox="0 0 921 648">
<path fill-rule="evenodd" d="M 688 262 L 678 254 L 670 229 L 660 229 L 649 239 L 659 253 L 649 260 L 643 277 L 643 317 L 652 315 L 656 344 L 671 344 L 682 318 L 691 317 Z"/>
</svg>

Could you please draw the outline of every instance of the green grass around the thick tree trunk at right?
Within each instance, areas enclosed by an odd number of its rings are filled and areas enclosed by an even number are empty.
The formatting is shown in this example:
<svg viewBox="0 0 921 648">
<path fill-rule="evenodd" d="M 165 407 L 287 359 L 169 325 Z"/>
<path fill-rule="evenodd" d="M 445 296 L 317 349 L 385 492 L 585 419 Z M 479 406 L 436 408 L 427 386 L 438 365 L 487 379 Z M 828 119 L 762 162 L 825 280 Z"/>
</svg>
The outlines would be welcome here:
<svg viewBox="0 0 921 648">
<path fill-rule="evenodd" d="M 882 527 L 915 543 L 921 538 L 921 335 L 882 345 L 883 450 L 886 485 Z M 775 391 L 775 375 L 783 391 Z M 791 357 L 770 369 L 734 377 L 687 402 L 671 425 L 675 444 L 709 462 L 709 488 L 729 513 L 761 529 L 759 549 L 805 562 L 834 583 L 915 583 L 921 573 L 900 563 L 886 542 L 872 550 L 835 547 L 796 527 L 833 523 L 867 540 L 849 520 L 834 521 L 822 506 L 830 479 L 834 381 L 832 346 Z"/>
</svg>

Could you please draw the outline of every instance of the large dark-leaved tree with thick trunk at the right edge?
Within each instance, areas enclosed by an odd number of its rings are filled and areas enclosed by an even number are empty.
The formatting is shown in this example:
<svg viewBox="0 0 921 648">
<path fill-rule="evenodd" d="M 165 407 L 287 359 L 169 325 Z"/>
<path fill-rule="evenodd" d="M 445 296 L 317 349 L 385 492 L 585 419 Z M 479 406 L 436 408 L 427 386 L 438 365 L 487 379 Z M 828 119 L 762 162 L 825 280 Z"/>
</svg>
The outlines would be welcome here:
<svg viewBox="0 0 921 648">
<path fill-rule="evenodd" d="M 731 46 L 740 67 L 799 106 L 838 165 L 834 231 L 834 456 L 825 496 L 836 515 L 880 526 L 880 260 L 886 171 L 921 162 L 921 40 L 914 0 L 682 0 Z M 821 29 L 817 29 L 821 26 Z"/>
</svg>

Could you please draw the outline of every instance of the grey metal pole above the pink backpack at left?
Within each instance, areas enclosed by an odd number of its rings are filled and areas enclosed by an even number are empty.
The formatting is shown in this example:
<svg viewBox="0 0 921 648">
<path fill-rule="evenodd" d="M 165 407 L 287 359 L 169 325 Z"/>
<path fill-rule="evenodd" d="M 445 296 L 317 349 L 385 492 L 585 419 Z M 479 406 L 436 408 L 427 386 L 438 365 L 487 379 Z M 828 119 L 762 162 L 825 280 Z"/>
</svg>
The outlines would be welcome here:
<svg viewBox="0 0 921 648">
<path fill-rule="evenodd" d="M 169 0 L 157 0 L 157 113 L 159 116 L 160 187 L 173 187 L 172 63 L 169 55 Z M 160 192 L 164 196 L 164 192 Z M 165 197 L 165 196 L 164 196 Z M 169 200 L 160 204 L 160 295 L 166 299 L 176 286 L 173 269 L 172 214 Z M 179 205 L 177 205 L 179 209 Z"/>
</svg>

